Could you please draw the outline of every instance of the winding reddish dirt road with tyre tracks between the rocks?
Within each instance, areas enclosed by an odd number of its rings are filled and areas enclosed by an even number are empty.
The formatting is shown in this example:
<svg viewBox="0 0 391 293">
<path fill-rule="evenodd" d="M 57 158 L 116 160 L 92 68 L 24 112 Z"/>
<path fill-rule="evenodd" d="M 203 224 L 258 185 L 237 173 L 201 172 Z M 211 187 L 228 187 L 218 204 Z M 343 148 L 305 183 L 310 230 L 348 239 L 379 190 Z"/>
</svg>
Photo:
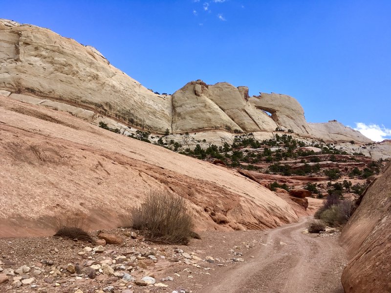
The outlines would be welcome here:
<svg viewBox="0 0 391 293">
<path fill-rule="evenodd" d="M 200 293 L 343 293 L 344 251 L 335 237 L 303 234 L 312 217 L 270 230 L 249 262 L 227 268 Z M 247 258 L 247 257 L 246 257 Z"/>
</svg>

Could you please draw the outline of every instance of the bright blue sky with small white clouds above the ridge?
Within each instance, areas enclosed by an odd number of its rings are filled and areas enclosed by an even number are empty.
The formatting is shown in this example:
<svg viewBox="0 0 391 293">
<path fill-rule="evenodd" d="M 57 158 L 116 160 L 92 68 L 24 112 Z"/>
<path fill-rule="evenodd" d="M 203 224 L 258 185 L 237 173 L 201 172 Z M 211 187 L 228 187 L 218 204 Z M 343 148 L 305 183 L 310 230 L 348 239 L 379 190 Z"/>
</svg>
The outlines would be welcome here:
<svg viewBox="0 0 391 293">
<path fill-rule="evenodd" d="M 390 0 L 13 0 L 0 9 L 96 47 L 160 93 L 197 79 L 247 85 L 250 95 L 295 97 L 308 122 L 336 119 L 377 140 L 391 138 L 390 16 Z"/>
</svg>

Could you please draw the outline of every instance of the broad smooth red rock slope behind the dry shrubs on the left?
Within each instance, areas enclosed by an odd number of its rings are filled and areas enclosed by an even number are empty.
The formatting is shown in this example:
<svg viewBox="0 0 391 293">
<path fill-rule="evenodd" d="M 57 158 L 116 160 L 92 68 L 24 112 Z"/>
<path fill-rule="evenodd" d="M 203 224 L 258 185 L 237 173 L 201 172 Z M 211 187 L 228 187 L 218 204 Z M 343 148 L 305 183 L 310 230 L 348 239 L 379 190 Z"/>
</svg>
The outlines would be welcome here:
<svg viewBox="0 0 391 293">
<path fill-rule="evenodd" d="M 67 214 L 87 216 L 91 228 L 116 227 L 150 188 L 184 196 L 198 230 L 262 229 L 298 218 L 235 170 L 3 96 L 0 140 L 0 237 L 50 234 L 53 219 Z"/>
</svg>

